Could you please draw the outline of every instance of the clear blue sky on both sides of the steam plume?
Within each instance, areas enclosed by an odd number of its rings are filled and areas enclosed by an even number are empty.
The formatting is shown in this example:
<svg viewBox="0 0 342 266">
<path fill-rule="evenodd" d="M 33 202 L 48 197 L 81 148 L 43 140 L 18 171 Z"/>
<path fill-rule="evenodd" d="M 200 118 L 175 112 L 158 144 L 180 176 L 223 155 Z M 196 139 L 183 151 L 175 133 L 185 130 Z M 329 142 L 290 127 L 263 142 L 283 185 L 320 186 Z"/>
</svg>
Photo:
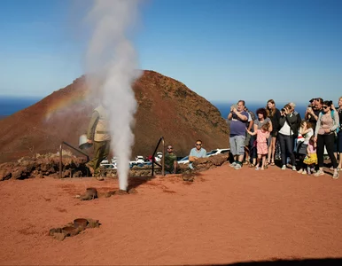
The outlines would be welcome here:
<svg viewBox="0 0 342 266">
<path fill-rule="evenodd" d="M 83 74 L 90 1 L 71 3 L 0 1 L 0 95 L 43 98 Z M 211 101 L 342 96 L 339 0 L 149 0 L 134 43 L 141 68 Z"/>
</svg>

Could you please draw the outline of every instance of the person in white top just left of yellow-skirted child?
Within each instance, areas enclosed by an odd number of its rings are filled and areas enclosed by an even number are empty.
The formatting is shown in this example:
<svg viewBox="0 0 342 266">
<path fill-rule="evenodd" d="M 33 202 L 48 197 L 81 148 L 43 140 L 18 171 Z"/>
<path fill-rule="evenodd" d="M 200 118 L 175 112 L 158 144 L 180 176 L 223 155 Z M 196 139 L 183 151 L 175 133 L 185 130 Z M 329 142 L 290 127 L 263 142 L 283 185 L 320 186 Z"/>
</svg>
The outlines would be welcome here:
<svg viewBox="0 0 342 266">
<path fill-rule="evenodd" d="M 297 173 L 307 175 L 307 169 L 303 163 L 303 160 L 307 155 L 307 145 L 310 141 L 310 137 L 314 135 L 314 129 L 312 129 L 311 123 L 309 121 L 302 121 L 300 123 L 299 134 L 304 137 L 304 141 L 299 143 L 297 147 L 297 153 L 299 155 L 299 171 Z"/>
</svg>

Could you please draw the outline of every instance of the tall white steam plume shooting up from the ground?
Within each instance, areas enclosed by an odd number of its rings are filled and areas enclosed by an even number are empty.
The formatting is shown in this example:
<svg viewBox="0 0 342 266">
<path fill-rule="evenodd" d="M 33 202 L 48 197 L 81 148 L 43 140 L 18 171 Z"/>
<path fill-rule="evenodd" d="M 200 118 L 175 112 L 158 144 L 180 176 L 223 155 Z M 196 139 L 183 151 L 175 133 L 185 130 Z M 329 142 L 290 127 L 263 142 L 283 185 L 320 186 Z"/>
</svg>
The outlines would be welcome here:
<svg viewBox="0 0 342 266">
<path fill-rule="evenodd" d="M 118 158 L 119 186 L 127 190 L 136 98 L 132 83 L 141 74 L 128 35 L 136 23 L 138 0 L 94 0 L 89 12 L 92 35 L 87 51 L 89 88 L 107 108 L 112 149 Z"/>
</svg>

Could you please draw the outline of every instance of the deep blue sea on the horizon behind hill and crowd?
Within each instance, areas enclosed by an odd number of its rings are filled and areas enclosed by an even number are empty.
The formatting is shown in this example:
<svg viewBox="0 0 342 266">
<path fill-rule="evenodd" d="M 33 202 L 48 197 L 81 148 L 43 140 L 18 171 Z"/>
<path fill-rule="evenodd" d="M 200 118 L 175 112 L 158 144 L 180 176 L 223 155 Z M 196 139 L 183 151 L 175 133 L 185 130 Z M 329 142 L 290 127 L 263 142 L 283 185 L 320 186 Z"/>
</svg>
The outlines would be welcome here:
<svg viewBox="0 0 342 266">
<path fill-rule="evenodd" d="M 22 109 L 27 108 L 28 106 L 34 105 L 36 102 L 40 101 L 42 98 L 19 98 L 19 97 L 5 97 L 5 96 L 0 96 L 0 119 L 4 118 L 5 116 L 11 115 L 12 113 L 16 113 Z M 230 106 L 236 103 L 223 103 L 223 102 L 212 102 L 214 106 L 219 109 L 221 112 L 221 115 L 223 118 L 227 118 Z M 285 103 L 283 104 L 278 104 L 276 107 L 278 109 L 281 109 Z M 255 111 L 260 108 L 260 107 L 265 107 L 266 104 L 262 103 L 246 103 L 246 106 L 248 107 L 249 110 Z M 296 106 L 296 111 L 300 113 L 300 116 L 303 118 L 304 113 L 307 109 L 307 105 L 305 104 L 298 104 Z"/>
</svg>

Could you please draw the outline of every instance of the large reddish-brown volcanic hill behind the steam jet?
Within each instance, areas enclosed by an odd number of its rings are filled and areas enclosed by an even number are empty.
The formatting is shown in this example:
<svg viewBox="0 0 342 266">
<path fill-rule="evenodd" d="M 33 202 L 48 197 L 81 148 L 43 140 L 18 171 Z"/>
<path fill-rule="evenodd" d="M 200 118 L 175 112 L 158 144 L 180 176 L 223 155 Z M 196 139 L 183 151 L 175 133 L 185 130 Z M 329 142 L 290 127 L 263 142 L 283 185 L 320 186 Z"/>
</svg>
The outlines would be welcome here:
<svg viewBox="0 0 342 266">
<path fill-rule="evenodd" d="M 152 154 L 161 136 L 166 145 L 175 146 L 178 155 L 188 154 L 198 138 L 207 151 L 229 146 L 229 129 L 221 113 L 182 82 L 144 71 L 133 88 L 138 109 L 132 158 Z M 94 107 L 84 100 L 86 94 L 82 76 L 1 120 L 0 162 L 34 153 L 56 153 L 62 141 L 77 147 Z"/>
</svg>

